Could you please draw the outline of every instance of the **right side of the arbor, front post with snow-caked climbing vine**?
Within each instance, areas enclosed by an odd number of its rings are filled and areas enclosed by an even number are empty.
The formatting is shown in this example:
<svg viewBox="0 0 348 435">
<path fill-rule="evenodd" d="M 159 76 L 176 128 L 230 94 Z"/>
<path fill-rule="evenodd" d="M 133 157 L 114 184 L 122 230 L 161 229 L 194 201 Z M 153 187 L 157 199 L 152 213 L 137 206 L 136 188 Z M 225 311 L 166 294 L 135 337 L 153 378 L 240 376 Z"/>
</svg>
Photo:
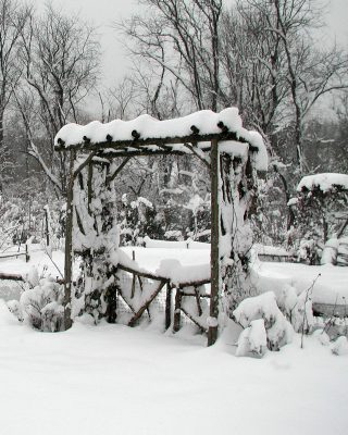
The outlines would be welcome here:
<svg viewBox="0 0 348 435">
<path fill-rule="evenodd" d="M 217 337 L 217 315 L 231 315 L 252 293 L 249 281 L 252 233 L 248 212 L 256 172 L 248 144 L 211 145 L 211 304 L 208 344 Z"/>
</svg>

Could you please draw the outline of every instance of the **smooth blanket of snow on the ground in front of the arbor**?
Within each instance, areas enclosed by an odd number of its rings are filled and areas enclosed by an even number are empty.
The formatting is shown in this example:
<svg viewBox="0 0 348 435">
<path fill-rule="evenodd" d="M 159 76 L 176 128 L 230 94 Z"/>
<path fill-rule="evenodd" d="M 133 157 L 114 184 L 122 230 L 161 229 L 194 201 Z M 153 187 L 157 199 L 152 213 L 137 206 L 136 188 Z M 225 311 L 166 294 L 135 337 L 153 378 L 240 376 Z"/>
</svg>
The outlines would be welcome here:
<svg viewBox="0 0 348 435">
<path fill-rule="evenodd" d="M 236 358 L 226 341 L 105 323 L 38 333 L 0 300 L 0 433 L 347 433 L 347 356 L 311 337 L 303 350 Z"/>
</svg>

